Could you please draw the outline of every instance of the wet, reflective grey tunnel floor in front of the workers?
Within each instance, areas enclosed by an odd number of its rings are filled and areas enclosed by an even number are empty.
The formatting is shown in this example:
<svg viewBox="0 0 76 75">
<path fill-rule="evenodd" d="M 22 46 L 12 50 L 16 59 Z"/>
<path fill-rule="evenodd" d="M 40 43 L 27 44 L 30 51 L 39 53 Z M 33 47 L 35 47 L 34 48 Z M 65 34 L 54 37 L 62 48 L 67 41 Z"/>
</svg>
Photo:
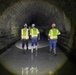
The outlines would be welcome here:
<svg viewBox="0 0 76 75">
<path fill-rule="evenodd" d="M 2 65 L 13 75 L 76 75 L 76 68 L 57 47 L 57 56 L 49 53 L 49 47 L 39 48 L 31 54 L 13 45 L 0 55 Z M 3 74 L 1 74 L 3 75 Z M 10 75 L 10 74 L 8 74 Z"/>
</svg>

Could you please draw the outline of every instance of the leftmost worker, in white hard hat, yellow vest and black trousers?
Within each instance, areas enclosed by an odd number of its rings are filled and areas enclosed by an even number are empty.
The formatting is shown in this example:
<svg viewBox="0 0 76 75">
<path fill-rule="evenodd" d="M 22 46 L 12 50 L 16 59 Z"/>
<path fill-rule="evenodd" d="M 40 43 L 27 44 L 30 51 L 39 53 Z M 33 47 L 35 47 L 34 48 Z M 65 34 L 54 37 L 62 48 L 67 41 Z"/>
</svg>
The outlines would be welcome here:
<svg viewBox="0 0 76 75">
<path fill-rule="evenodd" d="M 29 40 L 27 24 L 24 24 L 24 28 L 21 29 L 21 40 L 22 40 L 23 53 L 25 53 L 24 46 L 26 44 L 26 50 L 28 50 L 28 40 Z"/>
</svg>

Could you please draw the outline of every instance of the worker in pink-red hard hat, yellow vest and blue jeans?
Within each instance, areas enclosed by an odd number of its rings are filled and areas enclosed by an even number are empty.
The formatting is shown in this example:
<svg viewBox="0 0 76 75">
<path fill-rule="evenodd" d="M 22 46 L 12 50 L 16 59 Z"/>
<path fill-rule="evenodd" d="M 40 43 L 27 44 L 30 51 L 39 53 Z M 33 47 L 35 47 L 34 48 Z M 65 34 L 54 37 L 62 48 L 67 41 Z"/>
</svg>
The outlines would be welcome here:
<svg viewBox="0 0 76 75">
<path fill-rule="evenodd" d="M 52 29 L 49 30 L 48 37 L 49 37 L 49 44 L 50 44 L 50 52 L 53 49 L 53 53 L 56 55 L 56 45 L 58 35 L 60 35 L 60 31 L 56 28 L 56 24 L 52 24 Z"/>
</svg>

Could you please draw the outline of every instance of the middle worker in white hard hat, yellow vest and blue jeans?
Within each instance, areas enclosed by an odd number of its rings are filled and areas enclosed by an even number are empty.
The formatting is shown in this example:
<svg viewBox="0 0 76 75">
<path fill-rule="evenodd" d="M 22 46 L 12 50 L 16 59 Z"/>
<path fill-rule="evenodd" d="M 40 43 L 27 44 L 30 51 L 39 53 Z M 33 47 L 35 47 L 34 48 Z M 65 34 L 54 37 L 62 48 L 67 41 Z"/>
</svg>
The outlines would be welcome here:
<svg viewBox="0 0 76 75">
<path fill-rule="evenodd" d="M 31 44 L 32 44 L 31 53 L 33 53 L 34 45 L 37 51 L 38 39 L 40 40 L 40 32 L 35 27 L 35 24 L 32 24 L 32 28 L 30 30 L 30 36 L 31 36 Z"/>
</svg>

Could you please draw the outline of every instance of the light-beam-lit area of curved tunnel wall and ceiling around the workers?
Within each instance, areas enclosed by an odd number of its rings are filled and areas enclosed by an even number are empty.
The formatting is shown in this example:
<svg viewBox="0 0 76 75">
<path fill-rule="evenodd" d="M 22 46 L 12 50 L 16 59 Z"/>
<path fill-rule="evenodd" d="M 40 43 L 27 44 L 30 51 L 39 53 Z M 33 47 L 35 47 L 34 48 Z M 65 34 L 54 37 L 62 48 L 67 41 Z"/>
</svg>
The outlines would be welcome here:
<svg viewBox="0 0 76 75">
<path fill-rule="evenodd" d="M 57 24 L 61 31 L 58 44 L 70 53 L 71 23 L 63 10 L 48 1 L 18 1 L 0 15 L 0 49 L 7 47 L 20 38 L 20 30 L 24 23 L 31 26 L 32 23 L 42 32 L 51 28 L 52 23 Z"/>
</svg>

